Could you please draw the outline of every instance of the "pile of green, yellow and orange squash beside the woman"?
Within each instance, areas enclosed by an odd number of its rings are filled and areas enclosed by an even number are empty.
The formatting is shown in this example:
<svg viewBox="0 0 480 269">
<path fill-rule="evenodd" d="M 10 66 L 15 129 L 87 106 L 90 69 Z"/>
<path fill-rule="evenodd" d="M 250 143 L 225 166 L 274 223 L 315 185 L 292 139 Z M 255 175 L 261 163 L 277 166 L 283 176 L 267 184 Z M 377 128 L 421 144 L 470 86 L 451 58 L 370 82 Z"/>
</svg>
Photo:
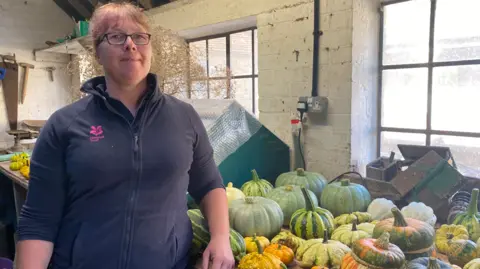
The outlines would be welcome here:
<svg viewBox="0 0 480 269">
<path fill-rule="evenodd" d="M 280 175 L 275 184 L 252 170 L 241 188 L 228 184 L 226 190 L 237 235 L 231 236 L 232 251 L 241 269 L 480 268 L 478 189 L 470 207 L 438 230 L 432 208 L 423 203 L 400 209 L 385 198 L 372 201 L 363 185 L 347 178 L 328 184 L 303 169 Z M 194 228 L 194 241 L 203 244 L 193 254 L 208 244 L 202 233 Z"/>
</svg>

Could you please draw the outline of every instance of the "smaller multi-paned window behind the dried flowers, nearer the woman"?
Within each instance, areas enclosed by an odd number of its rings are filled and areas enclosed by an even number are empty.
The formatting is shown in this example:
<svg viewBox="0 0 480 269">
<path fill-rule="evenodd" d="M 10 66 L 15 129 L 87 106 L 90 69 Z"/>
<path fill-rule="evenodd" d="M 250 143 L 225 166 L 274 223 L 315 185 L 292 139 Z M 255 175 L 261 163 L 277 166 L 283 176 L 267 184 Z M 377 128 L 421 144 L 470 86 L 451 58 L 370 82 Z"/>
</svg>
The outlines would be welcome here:
<svg viewBox="0 0 480 269">
<path fill-rule="evenodd" d="M 189 40 L 188 98 L 235 99 L 256 114 L 258 40 L 256 29 Z"/>
</svg>

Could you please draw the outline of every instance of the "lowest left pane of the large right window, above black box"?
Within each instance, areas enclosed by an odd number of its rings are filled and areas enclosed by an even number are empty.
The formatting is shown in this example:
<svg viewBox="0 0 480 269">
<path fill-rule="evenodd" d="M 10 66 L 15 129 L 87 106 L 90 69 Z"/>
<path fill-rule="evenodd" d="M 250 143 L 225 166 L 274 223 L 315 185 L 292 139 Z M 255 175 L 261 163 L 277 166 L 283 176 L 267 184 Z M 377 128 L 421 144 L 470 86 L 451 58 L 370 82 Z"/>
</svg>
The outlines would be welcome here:
<svg viewBox="0 0 480 269">
<path fill-rule="evenodd" d="M 425 134 L 382 132 L 380 140 L 380 155 L 389 157 L 390 152 L 395 152 L 395 159 L 402 159 L 403 156 L 398 150 L 398 144 L 425 145 Z"/>
</svg>

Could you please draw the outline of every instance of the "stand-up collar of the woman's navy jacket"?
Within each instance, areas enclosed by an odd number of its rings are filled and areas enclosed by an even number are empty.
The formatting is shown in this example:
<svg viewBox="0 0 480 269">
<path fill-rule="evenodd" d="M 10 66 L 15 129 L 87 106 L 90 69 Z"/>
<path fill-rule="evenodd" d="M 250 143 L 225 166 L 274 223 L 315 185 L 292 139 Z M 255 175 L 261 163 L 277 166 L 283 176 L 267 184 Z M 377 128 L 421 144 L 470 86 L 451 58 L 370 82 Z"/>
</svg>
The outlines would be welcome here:
<svg viewBox="0 0 480 269">
<path fill-rule="evenodd" d="M 151 101 L 157 101 L 163 96 L 163 93 L 158 86 L 158 78 L 156 74 L 148 73 L 147 88 L 145 94 L 148 99 L 151 99 Z M 108 93 L 105 91 L 106 89 L 107 85 L 105 76 L 98 76 L 87 80 L 80 88 L 80 91 L 105 99 L 109 98 Z"/>
</svg>

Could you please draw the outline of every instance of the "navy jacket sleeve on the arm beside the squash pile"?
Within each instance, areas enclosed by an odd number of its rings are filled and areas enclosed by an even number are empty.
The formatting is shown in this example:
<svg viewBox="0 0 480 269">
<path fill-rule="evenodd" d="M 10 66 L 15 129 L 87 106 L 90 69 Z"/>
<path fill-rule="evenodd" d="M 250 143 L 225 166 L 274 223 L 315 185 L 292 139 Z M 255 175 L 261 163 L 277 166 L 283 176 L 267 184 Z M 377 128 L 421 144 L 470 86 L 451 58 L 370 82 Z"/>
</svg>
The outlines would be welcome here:
<svg viewBox="0 0 480 269">
<path fill-rule="evenodd" d="M 213 158 L 213 148 L 208 139 L 207 131 L 200 116 L 189 105 L 190 120 L 195 133 L 193 147 L 193 162 L 190 167 L 190 183 L 188 192 L 197 204 L 211 190 L 225 188 L 220 171 Z"/>
</svg>

